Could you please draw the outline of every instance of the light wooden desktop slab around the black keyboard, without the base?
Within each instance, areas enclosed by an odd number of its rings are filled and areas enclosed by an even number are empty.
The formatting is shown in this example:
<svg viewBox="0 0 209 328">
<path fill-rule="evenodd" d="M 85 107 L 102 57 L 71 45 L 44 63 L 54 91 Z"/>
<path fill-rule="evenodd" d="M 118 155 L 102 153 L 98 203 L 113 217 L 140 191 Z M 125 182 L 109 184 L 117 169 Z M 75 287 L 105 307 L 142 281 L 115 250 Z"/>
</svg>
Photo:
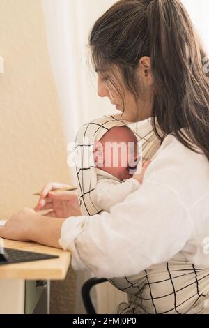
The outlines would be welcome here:
<svg viewBox="0 0 209 328">
<path fill-rule="evenodd" d="M 0 265 L 0 279 L 64 280 L 70 265 L 70 252 L 33 243 L 4 240 L 4 247 L 58 255 L 59 258 L 36 262 Z"/>
</svg>

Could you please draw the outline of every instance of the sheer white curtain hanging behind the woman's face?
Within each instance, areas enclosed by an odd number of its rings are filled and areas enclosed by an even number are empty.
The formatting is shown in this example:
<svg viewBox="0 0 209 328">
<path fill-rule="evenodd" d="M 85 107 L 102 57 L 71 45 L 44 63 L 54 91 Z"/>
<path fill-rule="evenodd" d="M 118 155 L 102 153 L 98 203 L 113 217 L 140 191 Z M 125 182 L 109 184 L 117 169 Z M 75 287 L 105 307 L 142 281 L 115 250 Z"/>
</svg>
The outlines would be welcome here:
<svg viewBox="0 0 209 328">
<path fill-rule="evenodd" d="M 95 20 L 114 2 L 42 0 L 68 143 L 75 139 L 79 126 L 115 110 L 107 99 L 98 98 L 95 80 L 86 67 L 88 33 Z"/>
</svg>

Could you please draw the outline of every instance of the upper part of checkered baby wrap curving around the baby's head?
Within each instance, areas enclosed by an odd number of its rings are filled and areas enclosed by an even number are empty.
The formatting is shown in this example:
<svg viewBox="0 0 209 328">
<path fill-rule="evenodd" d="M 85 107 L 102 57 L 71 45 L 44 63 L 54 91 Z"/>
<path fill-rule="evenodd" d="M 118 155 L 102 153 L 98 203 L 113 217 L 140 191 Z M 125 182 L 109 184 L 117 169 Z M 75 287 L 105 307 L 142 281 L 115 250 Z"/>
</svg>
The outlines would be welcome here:
<svg viewBox="0 0 209 328">
<path fill-rule="evenodd" d="M 100 141 L 114 126 L 128 126 L 134 132 L 137 140 L 141 142 L 141 156 L 145 160 L 152 159 L 160 148 L 160 140 L 156 137 L 149 120 L 132 123 L 121 119 L 121 114 L 116 114 L 84 124 L 77 133 L 75 147 L 77 186 L 83 215 L 93 216 L 102 212 L 95 200 L 98 176 L 93 161 L 93 147 L 94 143 Z M 105 177 L 106 173 L 103 174 Z"/>
</svg>

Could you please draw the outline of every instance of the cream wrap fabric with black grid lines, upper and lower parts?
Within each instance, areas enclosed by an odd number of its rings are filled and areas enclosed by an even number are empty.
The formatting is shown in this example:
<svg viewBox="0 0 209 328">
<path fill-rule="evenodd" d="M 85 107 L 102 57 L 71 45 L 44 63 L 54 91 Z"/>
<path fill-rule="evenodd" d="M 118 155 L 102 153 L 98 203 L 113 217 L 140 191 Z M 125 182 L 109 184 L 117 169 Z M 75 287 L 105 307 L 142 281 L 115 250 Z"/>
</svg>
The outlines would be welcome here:
<svg viewBox="0 0 209 328">
<path fill-rule="evenodd" d="M 152 159 L 160 147 L 150 121 L 133 124 L 120 117 L 112 115 L 95 119 L 82 126 L 77 133 L 77 184 L 84 215 L 102 213 L 94 193 L 98 176 L 93 161 L 89 161 L 93 155 L 94 142 L 99 141 L 114 126 L 126 125 L 141 142 L 141 156 L 144 159 Z M 118 306 L 120 314 L 197 314 L 203 313 L 204 301 L 208 297 L 209 269 L 194 267 L 179 253 L 169 262 L 150 267 L 137 276 L 114 278 L 110 282 L 128 295 L 129 302 Z"/>
</svg>

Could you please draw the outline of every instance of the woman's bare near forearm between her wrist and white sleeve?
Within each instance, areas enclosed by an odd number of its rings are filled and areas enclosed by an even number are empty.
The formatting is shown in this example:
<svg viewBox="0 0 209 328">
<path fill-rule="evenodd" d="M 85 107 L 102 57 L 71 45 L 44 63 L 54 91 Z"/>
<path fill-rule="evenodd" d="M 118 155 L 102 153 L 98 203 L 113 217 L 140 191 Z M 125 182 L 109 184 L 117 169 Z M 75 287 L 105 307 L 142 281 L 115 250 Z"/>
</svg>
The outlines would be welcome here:
<svg viewBox="0 0 209 328">
<path fill-rule="evenodd" d="M 38 244 L 61 248 L 58 241 L 64 221 L 64 218 L 38 216 L 35 220 L 31 221 L 26 234 L 31 241 L 35 241 Z"/>
</svg>

